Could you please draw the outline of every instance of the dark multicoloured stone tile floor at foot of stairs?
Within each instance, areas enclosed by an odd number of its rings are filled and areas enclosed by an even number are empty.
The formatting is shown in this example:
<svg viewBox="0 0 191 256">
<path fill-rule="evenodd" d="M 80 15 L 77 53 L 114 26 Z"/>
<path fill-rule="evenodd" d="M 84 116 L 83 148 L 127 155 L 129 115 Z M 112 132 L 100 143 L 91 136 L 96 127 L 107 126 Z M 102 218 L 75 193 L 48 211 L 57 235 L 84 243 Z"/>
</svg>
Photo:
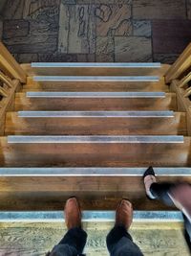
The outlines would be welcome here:
<svg viewBox="0 0 191 256">
<path fill-rule="evenodd" d="M 19 62 L 172 63 L 191 41 L 191 0 L 8 0 L 2 17 Z"/>
</svg>

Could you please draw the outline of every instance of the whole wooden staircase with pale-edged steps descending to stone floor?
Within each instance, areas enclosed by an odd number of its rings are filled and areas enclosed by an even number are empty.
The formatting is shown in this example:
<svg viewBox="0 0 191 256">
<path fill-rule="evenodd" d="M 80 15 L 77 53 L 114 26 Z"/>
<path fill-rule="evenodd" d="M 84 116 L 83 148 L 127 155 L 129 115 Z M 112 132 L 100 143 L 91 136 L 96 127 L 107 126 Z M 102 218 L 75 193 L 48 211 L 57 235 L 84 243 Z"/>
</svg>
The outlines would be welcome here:
<svg viewBox="0 0 191 256">
<path fill-rule="evenodd" d="M 0 210 L 61 210 L 74 195 L 86 210 L 114 210 L 119 198 L 162 210 L 145 197 L 145 169 L 153 165 L 158 180 L 191 181 L 188 112 L 165 81 L 175 66 L 20 66 L 3 47 L 16 68 L 2 71 L 22 86 L 1 125 Z"/>
</svg>

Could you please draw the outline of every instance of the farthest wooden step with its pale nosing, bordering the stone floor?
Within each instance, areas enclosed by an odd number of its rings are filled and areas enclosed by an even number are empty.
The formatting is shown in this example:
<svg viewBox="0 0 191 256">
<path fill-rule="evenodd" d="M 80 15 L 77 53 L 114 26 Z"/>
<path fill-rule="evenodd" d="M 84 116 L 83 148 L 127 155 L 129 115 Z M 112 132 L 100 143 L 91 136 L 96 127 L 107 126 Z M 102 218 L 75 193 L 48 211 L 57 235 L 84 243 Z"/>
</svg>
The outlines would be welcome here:
<svg viewBox="0 0 191 256">
<path fill-rule="evenodd" d="M 53 76 L 122 76 L 122 75 L 163 75 L 167 72 L 169 66 L 161 65 L 160 63 L 61 63 L 61 62 L 33 62 L 30 70 L 30 75 L 50 75 Z"/>
</svg>

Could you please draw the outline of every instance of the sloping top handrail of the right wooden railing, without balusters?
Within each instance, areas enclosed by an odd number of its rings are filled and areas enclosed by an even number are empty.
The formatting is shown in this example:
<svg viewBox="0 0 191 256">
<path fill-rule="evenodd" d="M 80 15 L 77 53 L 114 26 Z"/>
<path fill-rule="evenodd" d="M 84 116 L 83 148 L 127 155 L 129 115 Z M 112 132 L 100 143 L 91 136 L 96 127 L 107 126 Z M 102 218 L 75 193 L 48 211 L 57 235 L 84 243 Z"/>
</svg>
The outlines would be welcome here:
<svg viewBox="0 0 191 256">
<path fill-rule="evenodd" d="M 188 68 L 191 67 L 191 43 L 185 48 L 183 53 L 180 55 L 180 58 L 171 66 L 168 72 L 165 75 L 166 83 L 180 78 L 180 75 L 183 74 Z"/>
</svg>

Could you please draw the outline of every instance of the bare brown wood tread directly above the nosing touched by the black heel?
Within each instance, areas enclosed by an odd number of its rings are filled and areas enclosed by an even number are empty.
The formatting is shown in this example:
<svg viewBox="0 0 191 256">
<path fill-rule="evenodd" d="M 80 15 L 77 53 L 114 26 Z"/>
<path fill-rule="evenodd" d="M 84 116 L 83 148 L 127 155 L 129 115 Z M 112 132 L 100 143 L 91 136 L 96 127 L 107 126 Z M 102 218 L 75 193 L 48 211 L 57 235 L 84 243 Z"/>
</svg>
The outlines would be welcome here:
<svg viewBox="0 0 191 256">
<path fill-rule="evenodd" d="M 182 167 L 191 163 L 189 137 L 179 144 L 8 144 L 6 137 L 0 143 L 0 163 L 7 167 Z"/>
</svg>

